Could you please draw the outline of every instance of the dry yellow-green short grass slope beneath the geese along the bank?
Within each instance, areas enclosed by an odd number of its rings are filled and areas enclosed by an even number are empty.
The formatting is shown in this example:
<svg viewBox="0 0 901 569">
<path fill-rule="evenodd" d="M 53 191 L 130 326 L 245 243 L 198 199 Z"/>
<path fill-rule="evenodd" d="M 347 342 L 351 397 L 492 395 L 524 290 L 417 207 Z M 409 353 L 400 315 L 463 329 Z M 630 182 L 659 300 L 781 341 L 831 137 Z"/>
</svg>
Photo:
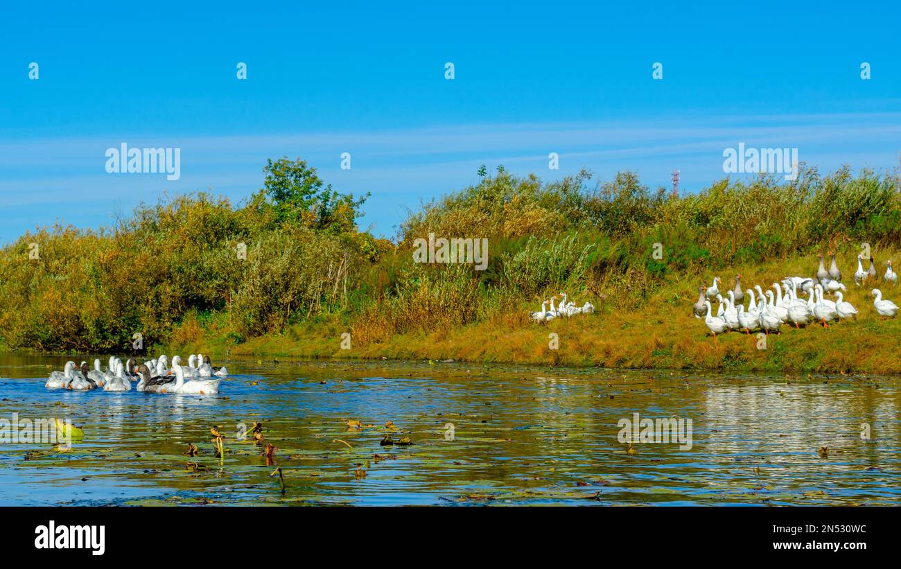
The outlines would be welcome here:
<svg viewBox="0 0 901 569">
<path fill-rule="evenodd" d="M 885 252 L 884 252 L 885 253 Z M 897 251 L 890 251 L 897 253 Z M 885 257 L 881 255 L 880 257 Z M 895 255 L 901 258 L 901 255 Z M 691 314 L 697 292 L 694 281 L 657 289 L 642 307 L 618 308 L 607 300 L 597 312 L 547 324 L 533 324 L 528 306 L 499 313 L 484 321 L 453 328 L 379 334 L 378 312 L 365 314 L 346 326 L 337 319 L 295 326 L 281 335 L 250 339 L 231 348 L 233 356 L 280 358 L 382 358 L 534 364 L 542 366 L 604 366 L 696 368 L 730 371 L 901 373 L 901 320 L 878 316 L 869 291 L 872 284 L 854 285 L 851 258 L 840 259 L 847 286 L 844 299 L 860 312 L 856 321 L 833 322 L 824 329 L 811 324 L 801 330 L 783 326 L 759 349 L 757 334 L 730 332 L 716 339 L 704 321 Z M 856 265 L 855 265 L 856 266 Z M 736 272 L 745 288 L 777 282 L 785 275 L 815 271 L 809 259 L 790 259 L 756 267 L 733 267 L 719 273 L 723 290 L 732 288 Z M 901 286 L 883 286 L 888 298 L 901 303 Z M 834 297 L 833 297 L 834 298 Z M 746 301 L 747 302 L 747 301 Z M 715 305 L 715 303 L 714 303 Z M 365 325 L 360 325 L 365 321 Z M 389 327 L 387 327 L 389 328 Z M 363 330 L 360 333 L 358 330 Z M 372 331 L 368 331 L 372 330 Z M 341 349 L 341 332 L 351 332 L 351 349 Z M 551 334 L 558 347 L 552 349 Z M 216 341 L 203 342 L 208 349 Z"/>
</svg>

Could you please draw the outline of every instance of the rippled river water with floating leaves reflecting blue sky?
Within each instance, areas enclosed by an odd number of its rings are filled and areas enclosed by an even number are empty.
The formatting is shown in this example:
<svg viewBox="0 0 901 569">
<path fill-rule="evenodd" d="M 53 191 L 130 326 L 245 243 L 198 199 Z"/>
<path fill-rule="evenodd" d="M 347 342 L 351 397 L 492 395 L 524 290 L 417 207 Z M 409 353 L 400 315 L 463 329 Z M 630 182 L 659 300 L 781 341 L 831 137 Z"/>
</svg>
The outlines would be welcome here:
<svg viewBox="0 0 901 569">
<path fill-rule="evenodd" d="M 896 377 L 228 362 L 218 396 L 45 389 L 66 359 L 0 357 L 0 420 L 69 418 L 85 432 L 68 452 L 0 444 L 0 504 L 901 501 Z M 693 446 L 628 452 L 617 421 L 634 412 L 691 419 Z M 238 440 L 253 421 L 260 445 Z M 387 421 L 412 444 L 381 446 Z"/>
</svg>

